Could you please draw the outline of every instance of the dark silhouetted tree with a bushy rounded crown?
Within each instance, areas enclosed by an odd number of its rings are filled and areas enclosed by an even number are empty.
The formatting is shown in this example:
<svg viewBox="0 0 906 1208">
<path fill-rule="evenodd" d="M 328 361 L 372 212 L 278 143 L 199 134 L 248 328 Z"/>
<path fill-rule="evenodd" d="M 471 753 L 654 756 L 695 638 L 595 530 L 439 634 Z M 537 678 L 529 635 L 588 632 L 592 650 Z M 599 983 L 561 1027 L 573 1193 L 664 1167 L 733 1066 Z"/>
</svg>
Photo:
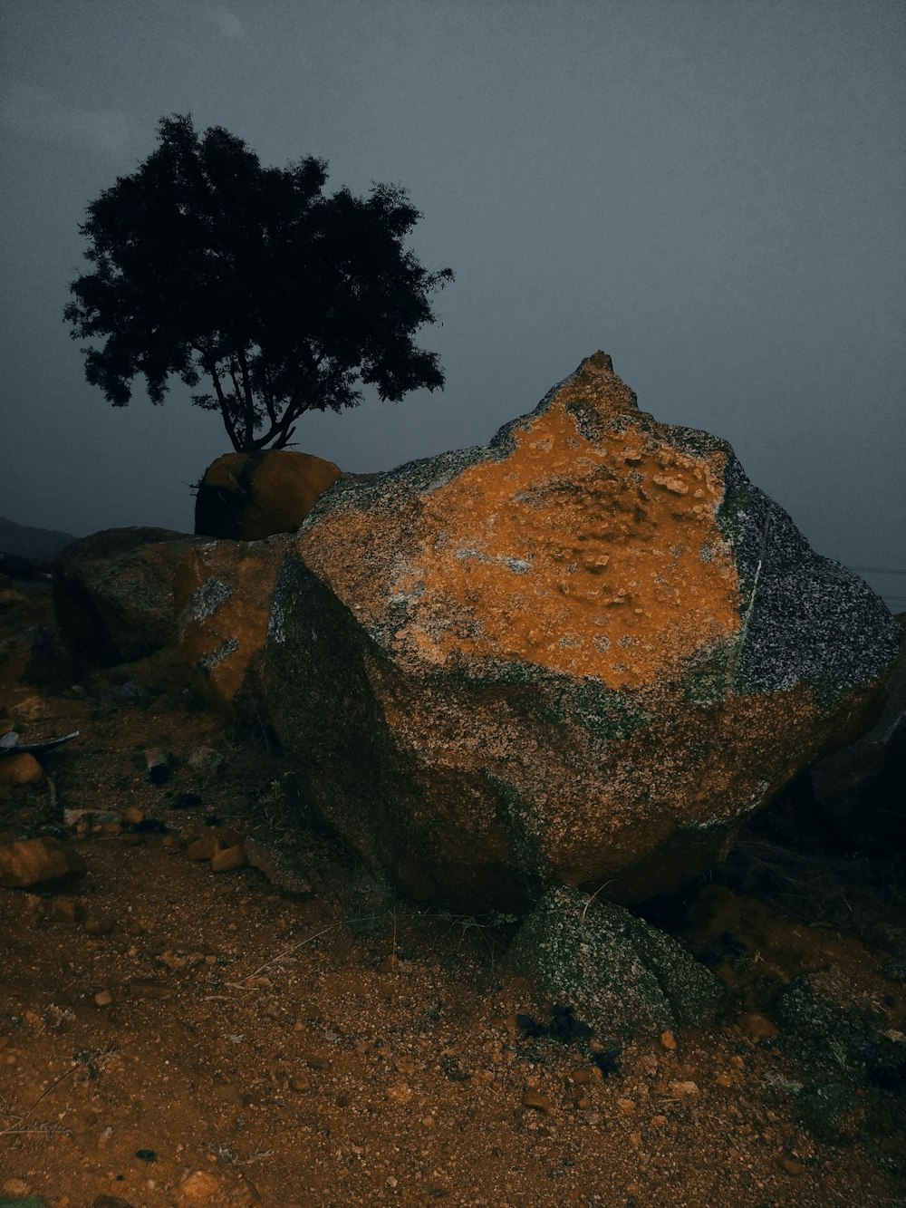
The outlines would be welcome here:
<svg viewBox="0 0 906 1208">
<path fill-rule="evenodd" d="M 80 232 L 94 266 L 70 285 L 64 318 L 85 376 L 115 407 L 143 373 L 152 402 L 168 378 L 211 393 L 240 452 L 283 448 L 306 411 L 443 387 L 435 353 L 413 335 L 434 323 L 429 295 L 453 280 L 403 249 L 422 217 L 396 185 L 367 198 L 321 190 L 327 164 L 308 157 L 262 168 L 222 127 L 199 135 L 191 116 L 161 118 L 159 145 L 87 208 Z"/>
</svg>

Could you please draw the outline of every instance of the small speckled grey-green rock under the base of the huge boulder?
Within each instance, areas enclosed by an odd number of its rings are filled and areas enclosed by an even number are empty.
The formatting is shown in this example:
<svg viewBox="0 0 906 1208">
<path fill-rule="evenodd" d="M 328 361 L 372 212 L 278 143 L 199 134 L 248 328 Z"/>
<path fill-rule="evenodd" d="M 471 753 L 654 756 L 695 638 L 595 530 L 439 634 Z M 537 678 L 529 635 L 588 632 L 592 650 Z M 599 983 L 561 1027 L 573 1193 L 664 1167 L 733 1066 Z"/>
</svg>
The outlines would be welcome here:
<svg viewBox="0 0 906 1208">
<path fill-rule="evenodd" d="M 702 1023 L 722 997 L 712 974 L 669 936 L 568 885 L 540 899 L 506 963 L 540 999 L 571 1007 L 604 1044 Z"/>
</svg>

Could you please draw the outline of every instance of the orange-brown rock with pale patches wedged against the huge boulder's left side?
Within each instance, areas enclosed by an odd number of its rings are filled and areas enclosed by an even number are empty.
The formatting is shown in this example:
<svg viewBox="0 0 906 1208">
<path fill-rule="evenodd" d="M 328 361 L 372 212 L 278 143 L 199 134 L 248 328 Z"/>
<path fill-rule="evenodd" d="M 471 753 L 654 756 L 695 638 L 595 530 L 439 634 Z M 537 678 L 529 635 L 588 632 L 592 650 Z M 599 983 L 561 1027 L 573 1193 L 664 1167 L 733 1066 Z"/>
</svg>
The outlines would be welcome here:
<svg viewBox="0 0 906 1208">
<path fill-rule="evenodd" d="M 261 662 L 271 596 L 288 547 L 267 541 L 209 541 L 176 568 L 179 649 L 198 692 L 215 708 L 263 708 Z"/>
</svg>

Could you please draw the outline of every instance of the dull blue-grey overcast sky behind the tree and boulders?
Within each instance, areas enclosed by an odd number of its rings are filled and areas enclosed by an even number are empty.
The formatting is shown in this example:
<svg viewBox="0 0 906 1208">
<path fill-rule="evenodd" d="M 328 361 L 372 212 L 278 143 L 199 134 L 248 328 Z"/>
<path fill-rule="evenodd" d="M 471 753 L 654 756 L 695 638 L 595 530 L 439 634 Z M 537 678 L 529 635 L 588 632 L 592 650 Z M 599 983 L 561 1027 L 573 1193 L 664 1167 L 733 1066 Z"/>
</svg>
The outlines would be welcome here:
<svg viewBox="0 0 906 1208">
<path fill-rule="evenodd" d="M 192 528 L 219 417 L 180 383 L 112 410 L 60 315 L 85 207 L 191 111 L 327 192 L 406 186 L 457 273 L 418 339 L 446 390 L 303 417 L 300 449 L 483 443 L 602 348 L 820 553 L 906 569 L 900 0 L 5 0 L 0 33 L 0 515 Z"/>
</svg>

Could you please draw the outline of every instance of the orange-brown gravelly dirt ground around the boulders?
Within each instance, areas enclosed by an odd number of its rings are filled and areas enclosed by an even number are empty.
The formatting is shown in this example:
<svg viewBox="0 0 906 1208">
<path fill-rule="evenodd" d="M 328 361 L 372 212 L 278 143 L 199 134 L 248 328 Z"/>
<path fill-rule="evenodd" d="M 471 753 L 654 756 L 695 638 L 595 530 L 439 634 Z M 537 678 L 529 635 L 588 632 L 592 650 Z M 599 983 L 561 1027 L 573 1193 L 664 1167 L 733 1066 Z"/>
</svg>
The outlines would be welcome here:
<svg viewBox="0 0 906 1208">
<path fill-rule="evenodd" d="M 506 969 L 513 920 L 394 895 L 167 656 L 22 683 L 50 622 L 40 592 L 0 603 L 0 732 L 80 733 L 0 785 L 0 840 L 87 871 L 0 889 L 0 1206 L 906 1204 L 901 1094 L 856 1079 L 829 1133 L 773 1010 L 835 966 L 904 1027 L 876 974 L 905 952 L 902 861 L 750 831 L 652 906 L 730 986 L 714 1023 L 618 1053 L 533 1036 L 551 1004 Z"/>
</svg>

